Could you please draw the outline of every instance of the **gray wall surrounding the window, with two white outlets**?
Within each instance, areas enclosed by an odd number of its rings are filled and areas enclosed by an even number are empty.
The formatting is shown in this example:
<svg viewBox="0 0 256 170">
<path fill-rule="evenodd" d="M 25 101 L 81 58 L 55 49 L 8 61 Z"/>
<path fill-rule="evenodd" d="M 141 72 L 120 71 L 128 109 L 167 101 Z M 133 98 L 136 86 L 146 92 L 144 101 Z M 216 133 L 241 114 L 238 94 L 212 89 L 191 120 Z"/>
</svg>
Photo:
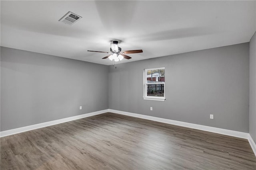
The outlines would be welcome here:
<svg viewBox="0 0 256 170">
<path fill-rule="evenodd" d="M 166 101 L 143 100 L 143 69 L 163 66 Z M 249 43 L 109 66 L 108 91 L 110 109 L 248 133 Z"/>
</svg>

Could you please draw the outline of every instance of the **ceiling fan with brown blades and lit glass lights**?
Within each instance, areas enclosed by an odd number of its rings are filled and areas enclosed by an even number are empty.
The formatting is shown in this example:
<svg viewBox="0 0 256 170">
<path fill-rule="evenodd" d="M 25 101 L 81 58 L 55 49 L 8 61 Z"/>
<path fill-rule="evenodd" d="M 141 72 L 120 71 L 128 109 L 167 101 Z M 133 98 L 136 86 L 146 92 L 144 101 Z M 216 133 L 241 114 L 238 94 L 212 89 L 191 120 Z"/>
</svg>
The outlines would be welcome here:
<svg viewBox="0 0 256 170">
<path fill-rule="evenodd" d="M 121 51 L 122 49 L 117 46 L 118 41 L 113 41 L 113 43 L 110 43 L 110 52 L 104 52 L 104 51 L 91 51 L 91 52 L 99 52 L 99 53 L 108 53 L 110 55 L 103 57 L 102 59 L 110 59 L 111 61 L 121 61 L 123 58 L 125 59 L 131 59 L 132 57 L 129 57 L 125 54 L 134 54 L 134 53 L 142 53 L 142 50 L 129 50 L 129 51 Z M 90 51 L 90 50 L 87 50 Z"/>
</svg>

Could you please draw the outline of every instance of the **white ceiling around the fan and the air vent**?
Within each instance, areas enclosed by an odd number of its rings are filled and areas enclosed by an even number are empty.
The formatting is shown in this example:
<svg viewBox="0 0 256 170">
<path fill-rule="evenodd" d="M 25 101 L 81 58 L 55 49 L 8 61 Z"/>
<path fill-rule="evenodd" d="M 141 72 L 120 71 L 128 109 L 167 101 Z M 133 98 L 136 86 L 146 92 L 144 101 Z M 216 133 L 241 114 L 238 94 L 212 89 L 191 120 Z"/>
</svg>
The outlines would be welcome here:
<svg viewBox="0 0 256 170">
<path fill-rule="evenodd" d="M 142 49 L 119 63 L 249 42 L 256 1 L 1 1 L 1 46 L 111 65 L 110 41 Z M 68 11 L 83 18 L 67 25 Z"/>
</svg>

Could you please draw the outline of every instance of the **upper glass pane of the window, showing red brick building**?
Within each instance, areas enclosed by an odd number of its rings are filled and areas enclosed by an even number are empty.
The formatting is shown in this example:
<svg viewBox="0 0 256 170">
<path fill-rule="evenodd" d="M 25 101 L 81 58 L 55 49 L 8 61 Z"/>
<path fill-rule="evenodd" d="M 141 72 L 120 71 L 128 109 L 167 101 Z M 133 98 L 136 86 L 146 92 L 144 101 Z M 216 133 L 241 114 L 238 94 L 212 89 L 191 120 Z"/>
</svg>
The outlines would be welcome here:
<svg viewBox="0 0 256 170">
<path fill-rule="evenodd" d="M 164 69 L 148 70 L 147 82 L 164 82 Z"/>
</svg>

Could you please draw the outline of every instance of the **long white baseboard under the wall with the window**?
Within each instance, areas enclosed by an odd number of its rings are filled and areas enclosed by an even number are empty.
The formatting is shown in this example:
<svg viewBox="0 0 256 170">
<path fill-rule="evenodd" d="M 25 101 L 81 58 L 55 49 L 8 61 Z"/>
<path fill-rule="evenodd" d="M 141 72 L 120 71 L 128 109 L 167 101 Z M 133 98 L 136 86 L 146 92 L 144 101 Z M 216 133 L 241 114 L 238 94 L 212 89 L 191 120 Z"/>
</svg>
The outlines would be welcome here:
<svg viewBox="0 0 256 170">
<path fill-rule="evenodd" d="M 168 123 L 168 124 L 172 124 L 172 125 L 189 127 L 192 129 L 199 129 L 202 131 L 208 131 L 208 132 L 213 132 L 213 133 L 219 133 L 222 135 L 228 135 L 228 136 L 248 139 L 248 133 L 244 133 L 244 132 L 232 131 L 232 130 L 228 130 L 228 129 L 221 129 L 221 128 L 217 128 L 217 127 L 210 127 L 210 126 L 204 126 L 204 125 L 197 125 L 197 124 L 193 124 L 193 123 L 186 123 L 186 122 L 182 122 L 182 121 L 164 119 L 164 118 L 153 117 L 153 116 L 148 116 L 148 115 L 140 115 L 137 113 L 130 113 L 130 112 L 126 112 L 126 111 L 119 111 L 119 110 L 113 110 L 113 109 L 108 109 L 108 111 L 112 112 L 112 113 L 121 114 L 121 115 L 138 117 L 138 118 L 142 118 L 142 119 L 158 121 L 158 122 L 162 122 L 162 123 Z"/>
</svg>

